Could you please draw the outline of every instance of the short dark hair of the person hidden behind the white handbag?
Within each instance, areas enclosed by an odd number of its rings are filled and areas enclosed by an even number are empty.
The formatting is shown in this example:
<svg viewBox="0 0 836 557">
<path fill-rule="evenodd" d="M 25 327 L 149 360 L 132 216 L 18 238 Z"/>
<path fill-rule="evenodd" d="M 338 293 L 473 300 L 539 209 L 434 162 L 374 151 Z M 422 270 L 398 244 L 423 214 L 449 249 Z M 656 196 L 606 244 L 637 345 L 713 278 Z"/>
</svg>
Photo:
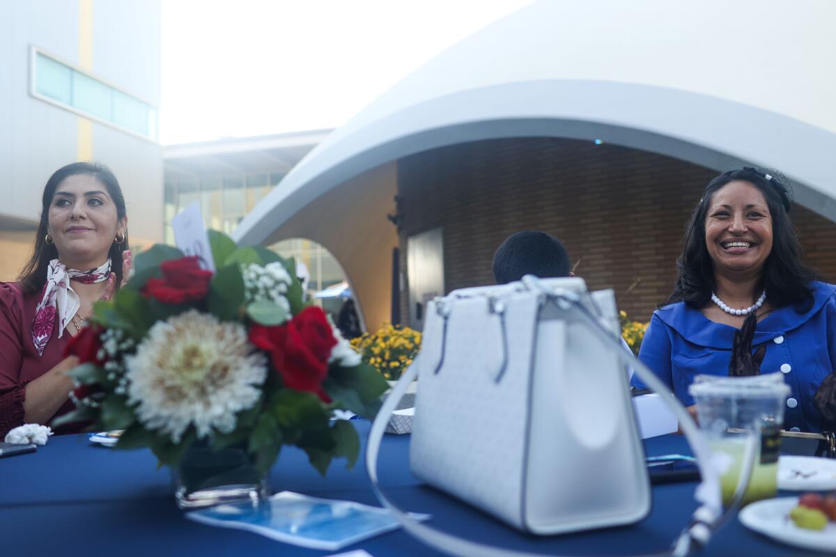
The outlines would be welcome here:
<svg viewBox="0 0 836 557">
<path fill-rule="evenodd" d="M 517 232 L 502 242 L 493 254 L 497 284 L 519 281 L 525 275 L 540 278 L 569 275 L 569 256 L 553 235 L 537 230 Z"/>
</svg>

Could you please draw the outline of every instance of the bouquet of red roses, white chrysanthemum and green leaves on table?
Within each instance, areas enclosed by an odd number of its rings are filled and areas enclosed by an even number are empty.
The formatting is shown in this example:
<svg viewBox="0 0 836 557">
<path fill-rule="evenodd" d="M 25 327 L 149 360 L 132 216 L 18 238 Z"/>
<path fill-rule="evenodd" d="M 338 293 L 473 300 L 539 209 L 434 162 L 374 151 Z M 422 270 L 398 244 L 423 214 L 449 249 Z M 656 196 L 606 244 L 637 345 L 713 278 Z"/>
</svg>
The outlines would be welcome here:
<svg viewBox="0 0 836 557">
<path fill-rule="evenodd" d="M 97 302 L 67 347 L 80 362 L 69 372 L 77 408 L 60 422 L 124 430 L 116 448 L 148 447 L 181 473 L 223 455 L 263 479 L 283 445 L 323 474 L 335 457 L 353 466 L 357 433 L 331 417 L 374 417 L 387 383 L 304 301 L 292 260 L 214 230 L 209 240 L 217 271 L 156 245 L 135 257 L 112 300 Z M 178 497 L 204 480 L 181 485 Z"/>
</svg>

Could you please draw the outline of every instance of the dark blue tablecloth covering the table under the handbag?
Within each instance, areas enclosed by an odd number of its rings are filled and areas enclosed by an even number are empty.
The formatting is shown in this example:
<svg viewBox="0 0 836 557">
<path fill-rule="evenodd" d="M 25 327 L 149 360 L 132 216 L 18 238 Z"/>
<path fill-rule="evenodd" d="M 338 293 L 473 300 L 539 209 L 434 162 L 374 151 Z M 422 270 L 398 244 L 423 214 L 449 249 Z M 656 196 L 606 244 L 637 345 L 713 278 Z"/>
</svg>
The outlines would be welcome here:
<svg viewBox="0 0 836 557">
<path fill-rule="evenodd" d="M 370 423 L 354 422 L 361 439 Z M 497 546 L 543 554 L 631 555 L 665 549 L 695 508 L 695 483 L 653 489 L 650 516 L 629 527 L 534 538 L 423 486 L 409 471 L 409 436 L 387 435 L 380 477 L 406 509 L 431 513 L 431 524 Z M 667 435 L 645 442 L 649 455 L 690 453 L 685 439 Z M 363 448 L 364 450 L 364 448 Z M 304 453 L 284 448 L 273 468 L 274 491 L 290 490 L 377 505 L 363 458 L 354 470 L 335 461 L 326 478 Z M 90 444 L 85 435 L 50 438 L 37 453 L 0 458 L 0 555 L 325 555 L 233 529 L 185 519 L 171 496 L 171 475 L 147 450 L 120 451 Z M 382 555 L 435 555 L 398 530 L 345 550 Z M 710 555 L 804 555 L 732 520 L 712 540 Z"/>
</svg>

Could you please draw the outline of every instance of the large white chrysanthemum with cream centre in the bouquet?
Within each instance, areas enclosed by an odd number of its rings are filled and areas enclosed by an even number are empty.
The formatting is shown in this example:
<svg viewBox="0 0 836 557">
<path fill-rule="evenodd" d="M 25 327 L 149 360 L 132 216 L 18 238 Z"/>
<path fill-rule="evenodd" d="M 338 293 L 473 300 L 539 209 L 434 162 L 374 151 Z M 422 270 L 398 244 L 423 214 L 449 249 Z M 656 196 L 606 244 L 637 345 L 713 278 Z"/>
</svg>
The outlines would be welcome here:
<svg viewBox="0 0 836 557">
<path fill-rule="evenodd" d="M 252 408 L 267 377 L 267 357 L 240 323 L 195 310 L 155 323 L 125 364 L 140 421 L 175 443 L 189 424 L 198 438 L 212 428 L 231 433 L 235 414 Z"/>
</svg>

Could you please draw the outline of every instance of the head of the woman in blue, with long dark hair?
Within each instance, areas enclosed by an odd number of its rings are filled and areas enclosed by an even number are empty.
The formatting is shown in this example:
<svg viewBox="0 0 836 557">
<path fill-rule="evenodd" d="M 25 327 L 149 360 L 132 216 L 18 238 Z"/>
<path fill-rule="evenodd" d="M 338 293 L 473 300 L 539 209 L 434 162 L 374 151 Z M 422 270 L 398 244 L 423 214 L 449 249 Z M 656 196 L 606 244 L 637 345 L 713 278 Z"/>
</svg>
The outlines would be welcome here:
<svg viewBox="0 0 836 557">
<path fill-rule="evenodd" d="M 705 306 L 716 276 L 757 278 L 774 306 L 808 301 L 814 273 L 803 264 L 789 218 L 789 182 L 776 170 L 729 170 L 706 186 L 686 229 L 669 301 Z"/>
</svg>

